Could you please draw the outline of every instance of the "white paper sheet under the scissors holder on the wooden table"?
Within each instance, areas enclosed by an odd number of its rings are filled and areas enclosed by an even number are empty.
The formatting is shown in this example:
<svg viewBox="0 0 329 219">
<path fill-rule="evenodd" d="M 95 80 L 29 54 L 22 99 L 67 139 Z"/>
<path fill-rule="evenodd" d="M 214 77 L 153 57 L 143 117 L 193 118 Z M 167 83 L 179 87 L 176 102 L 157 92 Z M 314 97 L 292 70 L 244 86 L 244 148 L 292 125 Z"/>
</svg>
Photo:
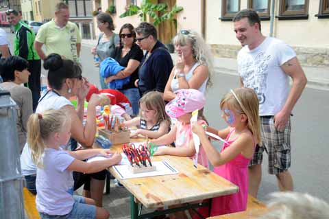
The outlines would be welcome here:
<svg viewBox="0 0 329 219">
<path fill-rule="evenodd" d="M 129 165 L 114 165 L 113 169 L 122 179 L 178 174 L 178 170 L 173 168 L 173 166 L 170 165 L 167 161 L 154 161 L 152 162 L 152 165 L 156 166 L 155 171 L 142 172 L 138 174 L 133 174 L 132 172 L 130 172 L 130 170 L 128 169 Z"/>
</svg>

